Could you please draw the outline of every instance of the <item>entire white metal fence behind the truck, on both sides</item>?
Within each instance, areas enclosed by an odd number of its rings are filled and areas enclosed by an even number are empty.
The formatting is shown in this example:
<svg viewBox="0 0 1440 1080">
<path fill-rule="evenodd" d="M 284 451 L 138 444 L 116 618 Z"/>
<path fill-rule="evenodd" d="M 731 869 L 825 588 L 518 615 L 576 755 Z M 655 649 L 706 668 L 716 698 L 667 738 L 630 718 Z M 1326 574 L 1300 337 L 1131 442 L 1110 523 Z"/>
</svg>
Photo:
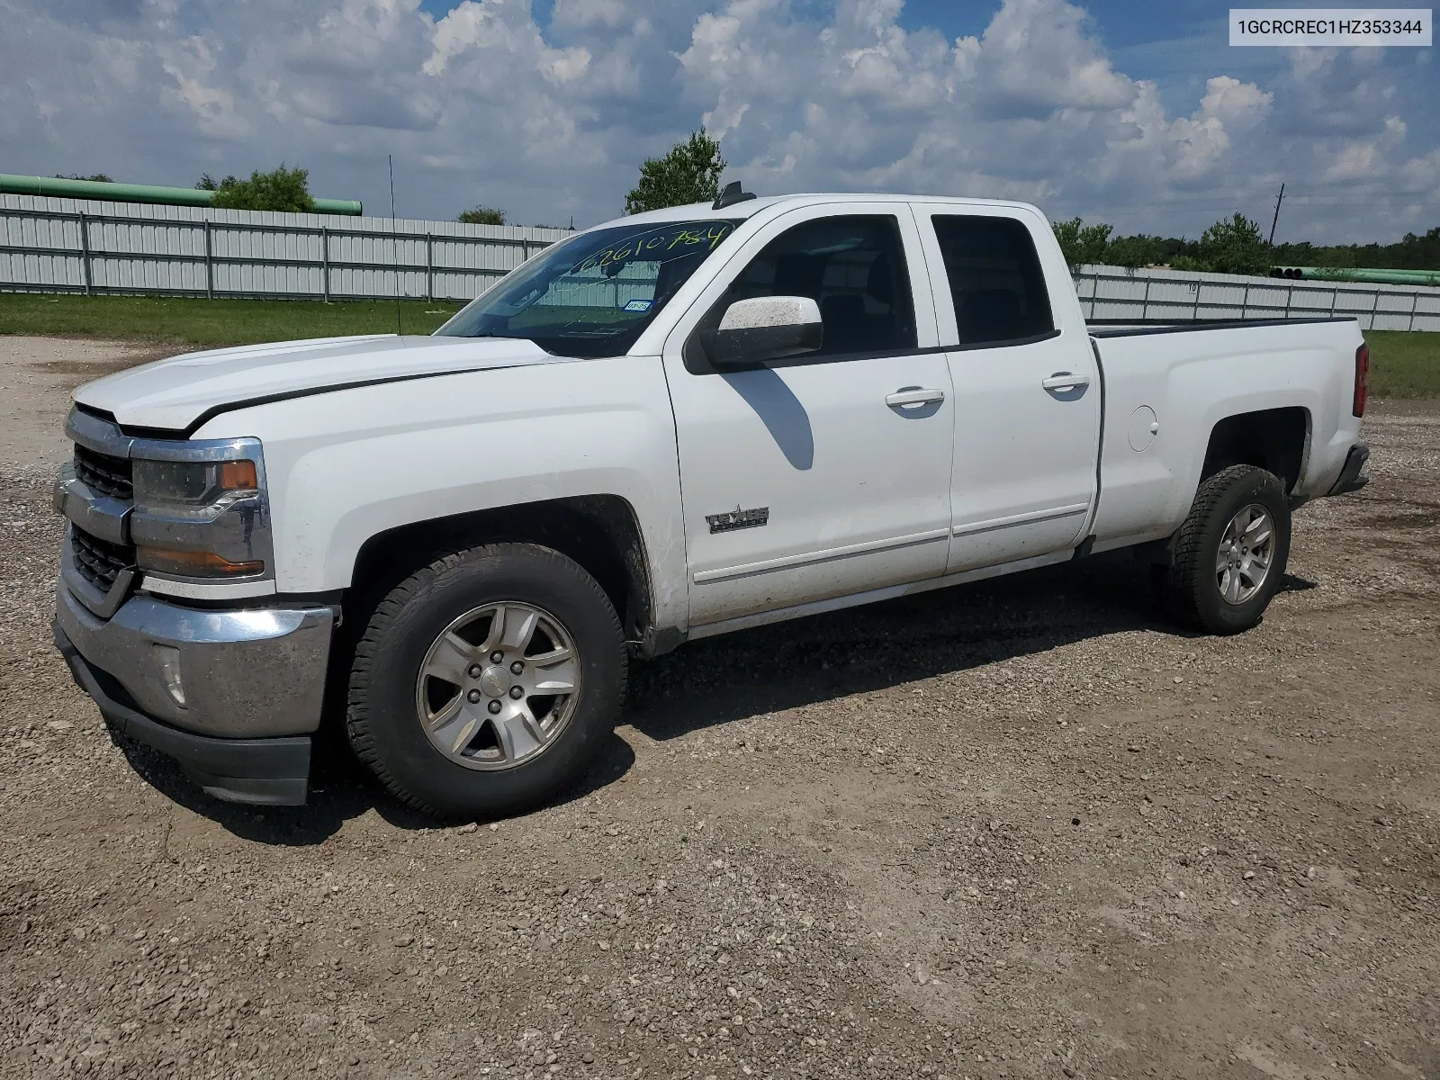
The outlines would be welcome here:
<svg viewBox="0 0 1440 1080">
<path fill-rule="evenodd" d="M 471 300 L 567 235 L 0 194 L 0 291 Z M 1120 266 L 1080 266 L 1074 281 L 1094 320 L 1354 315 L 1365 330 L 1440 331 L 1440 288 Z M 606 300 L 624 304 L 626 285 L 606 282 Z"/>
</svg>

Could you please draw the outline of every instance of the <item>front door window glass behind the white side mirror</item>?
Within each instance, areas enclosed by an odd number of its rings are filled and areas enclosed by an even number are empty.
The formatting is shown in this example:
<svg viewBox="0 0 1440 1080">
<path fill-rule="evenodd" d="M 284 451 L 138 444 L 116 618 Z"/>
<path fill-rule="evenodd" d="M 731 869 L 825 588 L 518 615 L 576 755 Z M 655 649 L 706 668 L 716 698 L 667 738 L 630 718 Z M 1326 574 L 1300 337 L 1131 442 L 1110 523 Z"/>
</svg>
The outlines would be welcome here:
<svg viewBox="0 0 1440 1080">
<path fill-rule="evenodd" d="M 752 297 L 811 297 L 819 305 L 824 344 L 808 356 L 916 347 L 910 275 L 893 215 L 822 217 L 780 233 L 701 325 L 719 325 L 730 304 Z"/>
</svg>

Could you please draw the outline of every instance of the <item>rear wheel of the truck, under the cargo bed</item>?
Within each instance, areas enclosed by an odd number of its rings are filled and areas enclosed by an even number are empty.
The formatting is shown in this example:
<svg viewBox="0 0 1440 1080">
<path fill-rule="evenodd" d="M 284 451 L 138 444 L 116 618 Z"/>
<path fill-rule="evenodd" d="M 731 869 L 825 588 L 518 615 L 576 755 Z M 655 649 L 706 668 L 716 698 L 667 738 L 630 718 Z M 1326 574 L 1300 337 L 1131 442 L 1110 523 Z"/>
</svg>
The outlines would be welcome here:
<svg viewBox="0 0 1440 1080">
<path fill-rule="evenodd" d="M 1267 521 L 1254 517 L 1256 510 Z M 1241 513 L 1250 516 L 1248 533 Z M 1238 541 L 1234 552 L 1233 540 Z M 1231 465 L 1208 477 L 1195 492 L 1171 552 L 1171 564 L 1152 567 L 1151 580 L 1172 618 L 1211 634 L 1240 634 L 1256 626 L 1279 590 L 1290 557 L 1290 501 L 1284 484 L 1254 465 Z"/>
</svg>

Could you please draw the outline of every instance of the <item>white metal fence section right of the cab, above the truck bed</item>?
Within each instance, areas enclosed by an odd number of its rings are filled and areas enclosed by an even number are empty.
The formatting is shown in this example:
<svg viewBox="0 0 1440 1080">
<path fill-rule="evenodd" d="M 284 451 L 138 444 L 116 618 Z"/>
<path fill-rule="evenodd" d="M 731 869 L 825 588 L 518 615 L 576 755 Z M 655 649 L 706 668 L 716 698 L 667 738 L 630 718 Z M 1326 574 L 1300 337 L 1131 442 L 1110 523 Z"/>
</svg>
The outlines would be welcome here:
<svg viewBox="0 0 1440 1080">
<path fill-rule="evenodd" d="M 1440 288 L 1080 266 L 1086 318 L 1191 323 L 1354 315 L 1361 330 L 1440 331 Z"/>
</svg>

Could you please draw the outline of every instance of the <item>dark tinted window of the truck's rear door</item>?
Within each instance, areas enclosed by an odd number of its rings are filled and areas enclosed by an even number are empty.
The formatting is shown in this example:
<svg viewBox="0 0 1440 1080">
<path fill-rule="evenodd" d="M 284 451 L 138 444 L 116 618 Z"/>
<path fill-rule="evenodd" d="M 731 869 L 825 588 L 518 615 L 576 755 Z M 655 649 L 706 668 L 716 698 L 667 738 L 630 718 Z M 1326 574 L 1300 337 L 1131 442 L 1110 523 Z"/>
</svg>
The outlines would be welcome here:
<svg viewBox="0 0 1440 1080">
<path fill-rule="evenodd" d="M 1014 217 L 935 215 L 962 346 L 999 344 L 1056 328 L 1030 230 Z"/>
</svg>

